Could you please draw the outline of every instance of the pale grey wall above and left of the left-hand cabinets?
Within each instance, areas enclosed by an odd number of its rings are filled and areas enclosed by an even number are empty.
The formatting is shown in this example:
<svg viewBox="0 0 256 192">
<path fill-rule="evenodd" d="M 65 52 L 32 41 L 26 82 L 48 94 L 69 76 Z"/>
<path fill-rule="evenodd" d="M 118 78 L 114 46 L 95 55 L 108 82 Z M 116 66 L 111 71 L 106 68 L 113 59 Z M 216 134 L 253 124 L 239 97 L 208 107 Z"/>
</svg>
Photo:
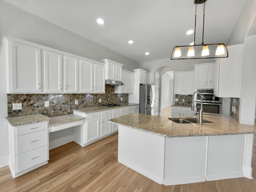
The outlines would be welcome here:
<svg viewBox="0 0 256 192">
<path fill-rule="evenodd" d="M 8 165 L 8 129 L 5 119 L 7 116 L 6 61 L 5 46 L 2 43 L 4 35 L 96 61 L 108 58 L 124 64 L 123 68 L 127 70 L 139 68 L 139 64 L 3 0 L 0 0 L 0 18 L 0 167 L 2 167 Z M 66 136 L 66 132 L 63 135 Z"/>
</svg>

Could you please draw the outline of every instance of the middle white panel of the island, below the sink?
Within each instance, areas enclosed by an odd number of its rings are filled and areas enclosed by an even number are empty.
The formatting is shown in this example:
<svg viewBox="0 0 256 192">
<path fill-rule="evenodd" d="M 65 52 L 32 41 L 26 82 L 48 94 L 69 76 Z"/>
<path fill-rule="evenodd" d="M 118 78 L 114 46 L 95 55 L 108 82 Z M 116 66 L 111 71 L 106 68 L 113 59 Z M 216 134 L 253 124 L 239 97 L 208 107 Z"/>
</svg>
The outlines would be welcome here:
<svg viewBox="0 0 256 192">
<path fill-rule="evenodd" d="M 207 136 L 166 138 L 164 185 L 204 182 Z"/>
</svg>

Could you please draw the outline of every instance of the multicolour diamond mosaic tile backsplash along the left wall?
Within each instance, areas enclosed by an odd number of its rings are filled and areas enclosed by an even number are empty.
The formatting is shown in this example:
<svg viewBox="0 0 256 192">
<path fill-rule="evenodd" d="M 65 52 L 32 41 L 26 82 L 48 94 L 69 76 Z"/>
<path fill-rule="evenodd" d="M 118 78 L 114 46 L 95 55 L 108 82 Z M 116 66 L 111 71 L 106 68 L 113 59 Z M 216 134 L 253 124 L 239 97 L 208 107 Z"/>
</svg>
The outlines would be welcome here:
<svg viewBox="0 0 256 192">
<path fill-rule="evenodd" d="M 114 90 L 114 86 L 106 85 L 105 94 L 7 94 L 8 117 L 36 113 L 53 117 L 72 114 L 76 108 L 128 103 L 129 94 L 115 94 Z M 49 107 L 44 107 L 45 101 L 49 101 Z M 22 103 L 22 110 L 12 110 L 13 103 Z"/>
</svg>

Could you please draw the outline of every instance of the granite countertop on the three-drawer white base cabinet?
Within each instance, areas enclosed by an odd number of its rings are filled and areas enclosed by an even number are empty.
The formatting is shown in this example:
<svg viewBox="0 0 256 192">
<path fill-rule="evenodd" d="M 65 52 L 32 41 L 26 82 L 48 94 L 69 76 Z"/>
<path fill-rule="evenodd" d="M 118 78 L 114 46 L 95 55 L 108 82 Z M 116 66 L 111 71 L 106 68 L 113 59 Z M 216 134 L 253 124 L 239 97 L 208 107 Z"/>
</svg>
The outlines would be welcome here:
<svg viewBox="0 0 256 192">
<path fill-rule="evenodd" d="M 6 117 L 7 121 L 11 126 L 19 126 L 24 124 L 36 123 L 41 121 L 48 121 L 51 118 L 40 113 L 31 114 L 31 115 L 22 115 L 15 117 Z"/>
</svg>

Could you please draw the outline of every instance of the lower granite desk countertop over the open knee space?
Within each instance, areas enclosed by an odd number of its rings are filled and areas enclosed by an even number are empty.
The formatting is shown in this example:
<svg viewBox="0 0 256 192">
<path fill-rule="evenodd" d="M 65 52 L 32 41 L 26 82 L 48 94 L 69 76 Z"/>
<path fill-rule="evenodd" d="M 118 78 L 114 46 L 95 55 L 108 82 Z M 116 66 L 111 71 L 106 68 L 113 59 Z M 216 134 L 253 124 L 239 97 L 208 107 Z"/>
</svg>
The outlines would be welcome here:
<svg viewBox="0 0 256 192">
<path fill-rule="evenodd" d="M 55 116 L 55 117 L 51 117 L 51 119 L 49 120 L 49 127 L 62 125 L 66 123 L 72 123 L 72 122 L 80 121 L 83 119 L 84 117 L 75 115 L 75 114 Z"/>
</svg>

